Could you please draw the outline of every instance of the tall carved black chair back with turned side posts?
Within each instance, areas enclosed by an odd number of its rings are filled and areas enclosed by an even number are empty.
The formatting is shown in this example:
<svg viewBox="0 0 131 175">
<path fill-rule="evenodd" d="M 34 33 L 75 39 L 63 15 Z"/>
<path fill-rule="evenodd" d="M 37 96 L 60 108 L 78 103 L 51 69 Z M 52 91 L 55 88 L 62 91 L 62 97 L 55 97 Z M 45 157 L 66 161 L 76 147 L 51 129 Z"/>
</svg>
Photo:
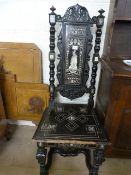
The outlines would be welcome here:
<svg viewBox="0 0 131 175">
<path fill-rule="evenodd" d="M 58 35 L 57 47 L 59 50 L 57 66 L 58 86 L 57 90 L 64 97 L 71 100 L 89 93 L 88 105 L 94 106 L 95 82 L 102 27 L 104 24 L 104 10 L 99 10 L 99 15 L 90 18 L 85 7 L 78 4 L 67 9 L 64 16 L 55 14 L 55 8 L 51 8 L 50 22 L 50 101 L 54 104 L 56 88 L 54 85 L 55 68 L 55 24 L 62 23 Z M 92 73 L 90 86 L 87 87 L 89 78 L 89 60 L 92 49 L 91 27 L 96 24 L 96 38 L 94 54 L 92 57 Z"/>
</svg>

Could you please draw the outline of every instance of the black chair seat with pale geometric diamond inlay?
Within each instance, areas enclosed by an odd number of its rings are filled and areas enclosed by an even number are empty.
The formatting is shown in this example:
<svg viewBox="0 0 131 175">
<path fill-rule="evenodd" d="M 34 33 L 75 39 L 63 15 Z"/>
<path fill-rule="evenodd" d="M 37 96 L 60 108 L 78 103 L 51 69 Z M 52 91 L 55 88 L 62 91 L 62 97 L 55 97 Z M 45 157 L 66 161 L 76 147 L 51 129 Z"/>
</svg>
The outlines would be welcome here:
<svg viewBox="0 0 131 175">
<path fill-rule="evenodd" d="M 104 129 L 97 118 L 95 110 L 88 110 L 87 105 L 56 104 L 53 111 L 47 108 L 43 113 L 33 139 L 107 143 Z"/>
</svg>

